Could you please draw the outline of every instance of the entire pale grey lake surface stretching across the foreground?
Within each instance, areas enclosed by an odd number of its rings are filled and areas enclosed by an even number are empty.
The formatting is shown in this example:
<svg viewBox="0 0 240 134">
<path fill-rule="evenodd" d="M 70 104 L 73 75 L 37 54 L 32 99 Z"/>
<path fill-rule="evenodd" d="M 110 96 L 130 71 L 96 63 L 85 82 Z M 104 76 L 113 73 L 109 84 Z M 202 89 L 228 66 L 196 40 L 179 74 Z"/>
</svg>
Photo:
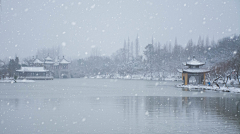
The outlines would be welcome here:
<svg viewBox="0 0 240 134">
<path fill-rule="evenodd" d="M 0 83 L 0 133 L 240 133 L 240 94 L 180 82 Z"/>
</svg>

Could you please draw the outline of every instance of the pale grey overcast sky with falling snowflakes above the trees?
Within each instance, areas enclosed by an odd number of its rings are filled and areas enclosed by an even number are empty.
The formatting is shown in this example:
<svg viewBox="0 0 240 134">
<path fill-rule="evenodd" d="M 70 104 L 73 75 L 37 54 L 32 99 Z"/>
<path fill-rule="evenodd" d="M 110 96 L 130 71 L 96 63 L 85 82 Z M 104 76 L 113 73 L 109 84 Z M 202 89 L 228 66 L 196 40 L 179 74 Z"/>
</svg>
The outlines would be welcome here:
<svg viewBox="0 0 240 134">
<path fill-rule="evenodd" d="M 92 47 L 111 55 L 137 34 L 142 52 L 152 37 L 185 45 L 240 33 L 240 0 L 1 0 L 1 8 L 0 58 L 57 45 L 68 57 Z"/>
</svg>

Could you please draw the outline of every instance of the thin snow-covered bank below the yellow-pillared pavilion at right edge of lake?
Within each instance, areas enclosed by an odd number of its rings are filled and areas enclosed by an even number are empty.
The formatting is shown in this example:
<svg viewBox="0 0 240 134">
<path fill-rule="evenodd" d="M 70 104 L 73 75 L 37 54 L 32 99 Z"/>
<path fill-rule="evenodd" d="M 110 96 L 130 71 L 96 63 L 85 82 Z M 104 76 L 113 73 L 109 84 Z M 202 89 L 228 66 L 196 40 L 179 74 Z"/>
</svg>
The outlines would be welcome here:
<svg viewBox="0 0 240 134">
<path fill-rule="evenodd" d="M 217 87 L 217 86 L 204 86 L 204 85 L 176 85 L 179 88 L 188 88 L 188 89 L 205 89 L 205 90 L 214 90 L 214 91 L 223 91 L 223 92 L 233 92 L 240 93 L 240 88 L 235 87 Z"/>
</svg>

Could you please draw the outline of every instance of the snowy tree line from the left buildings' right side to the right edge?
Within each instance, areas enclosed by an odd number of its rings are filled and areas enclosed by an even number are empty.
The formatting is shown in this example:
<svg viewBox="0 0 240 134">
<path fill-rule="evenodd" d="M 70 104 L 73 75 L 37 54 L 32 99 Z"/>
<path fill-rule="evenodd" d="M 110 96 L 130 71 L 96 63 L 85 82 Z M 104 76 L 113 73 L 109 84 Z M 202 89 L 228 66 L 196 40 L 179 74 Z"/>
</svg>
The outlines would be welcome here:
<svg viewBox="0 0 240 134">
<path fill-rule="evenodd" d="M 199 61 L 206 62 L 205 67 L 209 69 L 226 61 L 239 63 L 236 56 L 240 50 L 240 36 L 225 37 L 217 42 L 210 42 L 208 37 L 205 40 L 199 37 L 197 43 L 190 39 L 185 47 L 178 44 L 177 39 L 173 46 L 171 43 L 162 45 L 152 41 L 144 48 L 143 55 L 139 54 L 138 37 L 135 41 L 135 54 L 133 46 L 134 43 L 128 38 L 124 41 L 123 48 L 111 56 L 92 55 L 75 60 L 73 72 L 76 77 L 107 74 L 166 77 L 170 73 L 177 73 L 177 69 L 183 68 L 182 62 L 190 60 L 193 55 Z"/>
</svg>

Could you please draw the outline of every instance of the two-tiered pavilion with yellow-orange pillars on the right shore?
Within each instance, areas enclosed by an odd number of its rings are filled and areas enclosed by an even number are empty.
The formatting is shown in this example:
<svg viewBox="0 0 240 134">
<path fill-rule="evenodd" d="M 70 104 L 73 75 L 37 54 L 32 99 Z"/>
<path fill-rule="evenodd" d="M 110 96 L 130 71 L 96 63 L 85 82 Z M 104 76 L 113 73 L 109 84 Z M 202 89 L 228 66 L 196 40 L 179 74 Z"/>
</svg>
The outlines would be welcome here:
<svg viewBox="0 0 240 134">
<path fill-rule="evenodd" d="M 178 69 L 179 72 L 182 73 L 182 79 L 184 85 L 189 84 L 189 80 L 195 80 L 196 84 L 205 85 L 206 73 L 209 72 L 207 69 L 199 68 L 200 66 L 205 65 L 205 63 L 197 61 L 195 56 L 189 62 L 183 63 L 185 66 L 188 66 L 187 69 Z"/>
</svg>

